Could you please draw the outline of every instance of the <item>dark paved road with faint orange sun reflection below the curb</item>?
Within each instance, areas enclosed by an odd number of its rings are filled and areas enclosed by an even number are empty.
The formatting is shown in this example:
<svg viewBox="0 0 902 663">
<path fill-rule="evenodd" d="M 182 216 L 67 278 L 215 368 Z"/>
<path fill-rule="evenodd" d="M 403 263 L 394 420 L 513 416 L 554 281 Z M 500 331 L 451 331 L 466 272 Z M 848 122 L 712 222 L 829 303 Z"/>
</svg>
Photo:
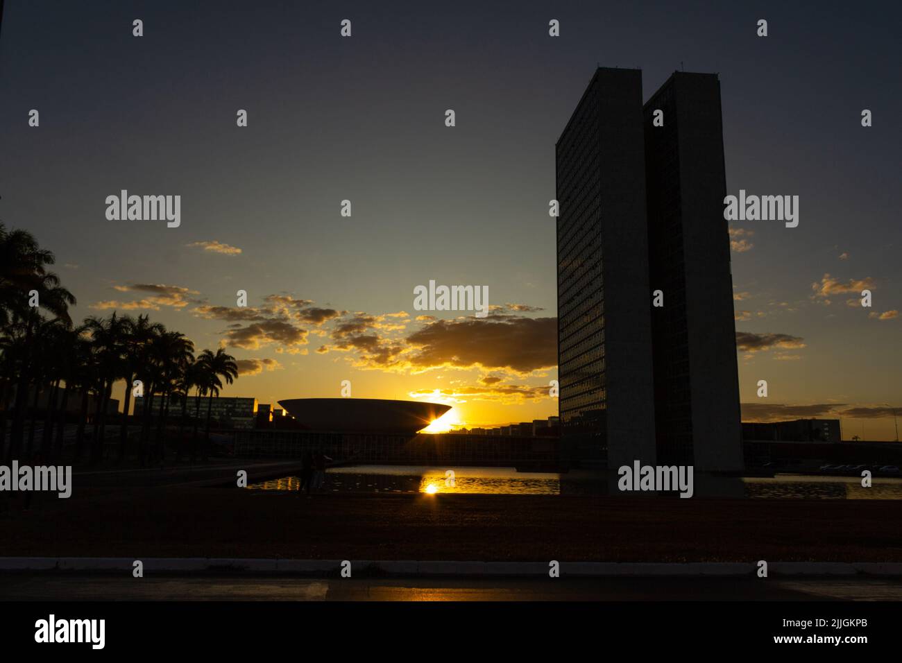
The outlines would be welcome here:
<svg viewBox="0 0 902 663">
<path fill-rule="evenodd" d="M 0 600 L 900 601 L 902 578 L 277 578 L 0 575 Z"/>
</svg>

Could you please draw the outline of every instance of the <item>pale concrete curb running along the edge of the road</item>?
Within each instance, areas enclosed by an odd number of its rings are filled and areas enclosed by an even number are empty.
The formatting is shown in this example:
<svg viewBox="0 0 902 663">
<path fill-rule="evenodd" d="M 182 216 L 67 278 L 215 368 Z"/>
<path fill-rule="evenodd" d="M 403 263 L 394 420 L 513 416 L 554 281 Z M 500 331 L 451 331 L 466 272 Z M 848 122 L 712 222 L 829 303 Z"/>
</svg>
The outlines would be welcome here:
<svg viewBox="0 0 902 663">
<path fill-rule="evenodd" d="M 3 571 L 125 571 L 131 557 L 0 557 Z M 146 557 L 145 573 L 239 572 L 336 575 L 340 559 L 248 559 L 228 557 Z M 349 560 L 352 572 L 393 576 L 548 576 L 548 562 Z M 561 562 L 561 576 L 755 576 L 752 562 Z M 770 562 L 769 576 L 902 576 L 902 563 Z"/>
</svg>

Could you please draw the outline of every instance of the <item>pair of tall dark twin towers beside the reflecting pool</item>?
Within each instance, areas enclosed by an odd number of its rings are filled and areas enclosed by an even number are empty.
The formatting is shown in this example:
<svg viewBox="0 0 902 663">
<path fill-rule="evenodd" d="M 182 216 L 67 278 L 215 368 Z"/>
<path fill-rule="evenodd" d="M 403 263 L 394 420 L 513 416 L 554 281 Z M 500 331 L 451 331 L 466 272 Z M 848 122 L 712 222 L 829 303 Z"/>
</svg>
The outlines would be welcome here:
<svg viewBox="0 0 902 663">
<path fill-rule="evenodd" d="M 597 69 L 556 152 L 564 455 L 741 471 L 716 74 Z"/>
</svg>

